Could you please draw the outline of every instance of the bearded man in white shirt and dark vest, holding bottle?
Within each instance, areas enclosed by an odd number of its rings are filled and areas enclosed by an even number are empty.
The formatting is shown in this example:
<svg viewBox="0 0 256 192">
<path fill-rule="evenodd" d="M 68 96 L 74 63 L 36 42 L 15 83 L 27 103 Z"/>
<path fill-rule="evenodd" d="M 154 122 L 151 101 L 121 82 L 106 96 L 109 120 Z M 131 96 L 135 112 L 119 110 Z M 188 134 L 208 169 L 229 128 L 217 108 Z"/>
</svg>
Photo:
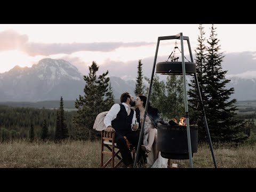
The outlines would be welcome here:
<svg viewBox="0 0 256 192">
<path fill-rule="evenodd" d="M 117 143 L 123 162 L 127 167 L 133 166 L 133 160 L 130 150 L 126 145 L 125 138 L 137 149 L 139 142 L 138 122 L 135 124 L 136 112 L 131 109 L 135 106 L 135 101 L 130 93 L 123 93 L 120 97 L 122 104 L 114 104 L 104 118 L 104 124 L 108 132 L 115 132 L 115 142 Z M 136 119 L 137 121 L 137 119 Z M 141 150 L 140 150 L 141 151 Z M 139 154 L 139 159 L 142 154 Z"/>
</svg>

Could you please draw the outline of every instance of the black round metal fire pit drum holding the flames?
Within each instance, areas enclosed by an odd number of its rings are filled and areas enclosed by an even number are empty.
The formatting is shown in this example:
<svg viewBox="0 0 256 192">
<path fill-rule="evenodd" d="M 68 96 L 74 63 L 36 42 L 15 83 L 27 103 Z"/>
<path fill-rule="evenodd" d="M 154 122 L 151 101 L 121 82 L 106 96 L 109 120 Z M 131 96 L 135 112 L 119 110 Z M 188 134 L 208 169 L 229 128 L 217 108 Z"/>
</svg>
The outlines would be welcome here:
<svg viewBox="0 0 256 192">
<path fill-rule="evenodd" d="M 192 157 L 197 153 L 198 126 L 190 125 Z M 187 126 L 157 125 L 157 148 L 168 159 L 189 159 Z"/>
</svg>

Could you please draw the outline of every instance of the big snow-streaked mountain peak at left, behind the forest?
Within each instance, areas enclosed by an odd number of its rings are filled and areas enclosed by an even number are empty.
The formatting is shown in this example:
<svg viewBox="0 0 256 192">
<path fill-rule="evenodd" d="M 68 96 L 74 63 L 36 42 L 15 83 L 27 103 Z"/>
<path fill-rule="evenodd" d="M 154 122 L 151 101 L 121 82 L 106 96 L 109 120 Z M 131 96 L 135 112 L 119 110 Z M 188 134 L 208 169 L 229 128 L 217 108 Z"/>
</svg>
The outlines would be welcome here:
<svg viewBox="0 0 256 192">
<path fill-rule="evenodd" d="M 0 74 L 0 100 L 74 100 L 84 84 L 83 75 L 68 61 L 42 59 L 31 68 L 15 66 Z"/>
</svg>

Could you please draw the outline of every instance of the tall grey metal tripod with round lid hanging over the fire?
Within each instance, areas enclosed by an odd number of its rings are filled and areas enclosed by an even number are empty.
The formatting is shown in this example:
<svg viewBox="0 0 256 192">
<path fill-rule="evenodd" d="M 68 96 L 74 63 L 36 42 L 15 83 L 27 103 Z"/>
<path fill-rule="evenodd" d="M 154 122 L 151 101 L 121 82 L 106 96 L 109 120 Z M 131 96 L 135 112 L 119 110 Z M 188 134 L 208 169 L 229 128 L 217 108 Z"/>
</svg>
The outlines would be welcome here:
<svg viewBox="0 0 256 192">
<path fill-rule="evenodd" d="M 158 53 L 158 48 L 159 48 L 159 42 L 162 41 L 162 40 L 169 40 L 169 39 L 180 39 L 182 62 L 167 62 L 167 61 L 166 62 L 159 62 L 159 63 L 157 63 L 157 66 L 156 66 L 156 59 L 157 59 L 157 53 Z M 191 62 L 186 62 L 185 63 L 185 61 L 184 61 L 185 55 L 184 55 L 184 50 L 183 50 L 183 40 L 187 40 L 187 42 L 188 42 L 188 48 L 189 48 L 189 54 L 190 54 Z M 186 75 L 190 75 L 190 74 L 194 75 L 195 83 L 197 85 L 197 90 L 198 90 L 199 102 L 200 102 L 200 105 L 201 105 L 201 108 L 202 108 L 202 115 L 203 115 L 203 119 L 204 119 L 204 125 L 205 125 L 205 129 L 206 129 L 206 133 L 207 133 L 207 137 L 208 137 L 208 141 L 209 141 L 209 145 L 210 145 L 210 149 L 211 149 L 211 153 L 212 153 L 212 158 L 213 158 L 213 162 L 214 162 L 214 167 L 217 168 L 217 163 L 215 161 L 215 156 L 214 156 L 214 153 L 213 153 L 213 147 L 212 147 L 210 132 L 209 132 L 209 128 L 208 128 L 208 125 L 207 125 L 206 116 L 205 116 L 204 104 L 203 104 L 203 100 L 202 100 L 202 97 L 201 97 L 201 92 L 200 92 L 199 84 L 198 84 L 198 80 L 197 80 L 196 65 L 193 62 L 193 56 L 192 56 L 192 52 L 191 52 L 189 38 L 187 36 L 183 36 L 182 33 L 179 33 L 179 34 L 174 35 L 174 36 L 158 37 L 155 59 L 154 59 L 154 65 L 153 65 L 153 70 L 152 70 L 152 74 L 151 74 L 148 96 L 147 96 L 147 102 L 146 102 L 146 107 L 145 107 L 145 113 L 144 113 L 143 121 L 142 121 L 142 125 L 141 125 L 139 145 L 138 145 L 138 148 L 137 148 L 137 154 L 136 154 L 136 157 L 135 157 L 133 167 L 134 168 L 136 167 L 137 161 L 138 161 L 138 154 L 139 154 L 139 150 L 140 150 L 140 147 L 141 147 L 140 143 L 141 143 L 142 137 L 143 137 L 143 129 L 144 129 L 145 119 L 146 119 L 147 110 L 148 110 L 148 103 L 149 103 L 149 99 L 150 99 L 151 87 L 152 87 L 152 84 L 153 84 L 155 67 L 156 67 L 156 73 L 161 73 L 163 75 L 166 74 L 166 75 L 182 75 L 183 76 L 183 90 L 184 90 L 185 113 L 186 113 L 186 119 L 187 119 L 188 155 L 189 155 L 190 168 L 193 168 L 193 160 L 192 160 L 192 152 L 191 152 L 188 101 L 187 101 L 187 90 L 186 90 Z"/>
</svg>

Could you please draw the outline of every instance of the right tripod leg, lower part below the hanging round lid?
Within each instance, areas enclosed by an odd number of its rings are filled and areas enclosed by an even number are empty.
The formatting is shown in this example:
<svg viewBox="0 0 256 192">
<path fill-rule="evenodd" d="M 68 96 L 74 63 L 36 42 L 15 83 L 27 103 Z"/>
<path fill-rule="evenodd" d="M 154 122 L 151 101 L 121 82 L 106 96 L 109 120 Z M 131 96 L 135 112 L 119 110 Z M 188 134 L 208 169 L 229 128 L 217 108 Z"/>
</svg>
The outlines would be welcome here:
<svg viewBox="0 0 256 192">
<path fill-rule="evenodd" d="M 197 86 L 197 90 L 198 90 L 198 97 L 199 97 L 199 101 L 200 101 L 201 108 L 202 108 L 202 114 L 203 114 L 203 118 L 204 118 L 204 126 L 205 126 L 205 129 L 206 129 L 209 145 L 210 145 L 210 148 L 211 148 L 212 159 L 213 159 L 214 167 L 217 168 L 217 163 L 216 163 L 215 156 L 214 156 L 214 153 L 213 153 L 213 148 L 212 148 L 212 141 L 211 141 L 211 137 L 210 137 L 210 132 L 209 132 L 208 124 L 207 124 L 206 117 L 205 117 L 204 103 L 203 103 L 203 100 L 202 100 L 202 97 L 201 97 L 201 91 L 200 91 L 199 84 L 198 84 L 198 81 L 197 81 L 196 73 L 194 74 L 194 76 L 195 76 L 196 86 Z"/>
</svg>

